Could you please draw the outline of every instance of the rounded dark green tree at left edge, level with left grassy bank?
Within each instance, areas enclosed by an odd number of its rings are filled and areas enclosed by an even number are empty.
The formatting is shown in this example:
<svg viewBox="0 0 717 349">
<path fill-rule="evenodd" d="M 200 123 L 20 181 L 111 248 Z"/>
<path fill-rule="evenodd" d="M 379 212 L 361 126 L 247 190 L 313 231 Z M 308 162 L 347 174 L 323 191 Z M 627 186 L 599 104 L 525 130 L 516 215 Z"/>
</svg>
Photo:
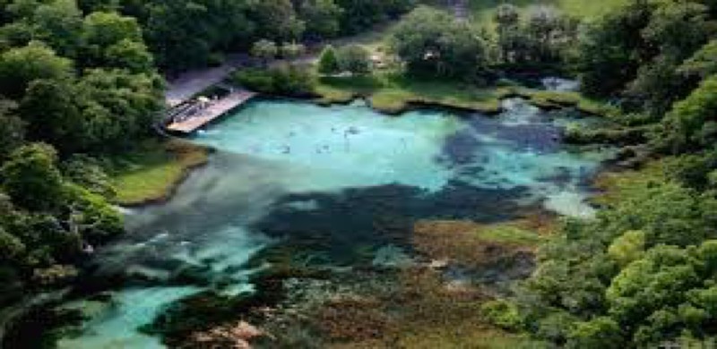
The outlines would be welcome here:
<svg viewBox="0 0 717 349">
<path fill-rule="evenodd" d="M 34 143 L 13 151 L 0 168 L 4 192 L 17 205 L 31 210 L 56 209 L 62 200 L 62 176 L 55 149 Z"/>
</svg>

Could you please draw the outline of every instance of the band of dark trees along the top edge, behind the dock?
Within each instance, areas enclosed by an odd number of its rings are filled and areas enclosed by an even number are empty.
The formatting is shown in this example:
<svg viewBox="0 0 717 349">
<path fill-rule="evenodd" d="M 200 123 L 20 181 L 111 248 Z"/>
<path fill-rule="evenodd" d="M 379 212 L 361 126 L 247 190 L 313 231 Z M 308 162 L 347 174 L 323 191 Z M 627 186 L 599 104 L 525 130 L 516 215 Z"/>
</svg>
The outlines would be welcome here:
<svg viewBox="0 0 717 349">
<path fill-rule="evenodd" d="M 261 39 L 315 41 L 367 30 L 410 10 L 414 0 L 85 0 L 85 11 L 116 11 L 140 22 L 165 71 L 220 63 Z"/>
</svg>

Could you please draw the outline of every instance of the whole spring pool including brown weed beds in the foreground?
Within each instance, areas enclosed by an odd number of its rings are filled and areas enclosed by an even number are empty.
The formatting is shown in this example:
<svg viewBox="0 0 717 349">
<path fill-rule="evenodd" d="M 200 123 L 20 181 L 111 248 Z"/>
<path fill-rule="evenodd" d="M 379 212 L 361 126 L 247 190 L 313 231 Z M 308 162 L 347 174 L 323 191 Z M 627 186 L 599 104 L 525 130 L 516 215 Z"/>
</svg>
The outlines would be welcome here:
<svg viewBox="0 0 717 349">
<path fill-rule="evenodd" d="M 133 234 L 99 252 L 99 271 L 155 294 L 194 287 L 131 322 L 156 345 L 195 347 L 242 320 L 267 334 L 252 344 L 270 348 L 521 341 L 486 325 L 479 306 L 531 271 L 550 218 L 491 223 L 583 192 L 604 157 L 563 149 L 559 116 L 504 106 L 501 118 L 393 118 L 362 104 L 255 101 L 197 135 L 218 149 L 212 162 L 173 200 L 132 210 Z M 421 258 L 444 252 L 443 267 Z M 108 328 L 134 307 L 118 303 L 73 343 L 111 342 Z M 134 328 L 121 340 L 143 336 Z"/>
</svg>

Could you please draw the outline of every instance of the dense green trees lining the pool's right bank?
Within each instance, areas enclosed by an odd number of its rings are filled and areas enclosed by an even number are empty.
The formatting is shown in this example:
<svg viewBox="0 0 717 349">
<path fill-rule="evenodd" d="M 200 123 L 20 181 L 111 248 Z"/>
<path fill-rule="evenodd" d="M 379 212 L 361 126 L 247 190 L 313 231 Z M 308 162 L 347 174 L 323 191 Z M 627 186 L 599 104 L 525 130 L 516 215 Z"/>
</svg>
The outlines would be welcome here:
<svg viewBox="0 0 717 349">
<path fill-rule="evenodd" d="M 566 63 L 660 170 L 623 179 L 595 220 L 566 220 L 488 318 L 569 348 L 717 340 L 716 43 L 707 0 L 630 0 L 581 29 Z"/>
</svg>

